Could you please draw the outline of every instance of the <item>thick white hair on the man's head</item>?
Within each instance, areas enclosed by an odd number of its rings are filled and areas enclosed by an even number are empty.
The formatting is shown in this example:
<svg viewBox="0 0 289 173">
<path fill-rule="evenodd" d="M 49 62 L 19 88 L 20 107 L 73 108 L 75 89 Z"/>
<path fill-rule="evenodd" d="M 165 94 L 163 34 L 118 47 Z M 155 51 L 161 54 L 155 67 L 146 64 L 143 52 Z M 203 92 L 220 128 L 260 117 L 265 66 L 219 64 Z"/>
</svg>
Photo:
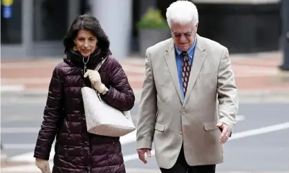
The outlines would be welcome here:
<svg viewBox="0 0 289 173">
<path fill-rule="evenodd" d="M 198 23 L 198 10 L 191 1 L 176 1 L 167 8 L 167 24 L 171 28 L 171 22 L 174 21 L 180 25 L 193 22 L 194 26 Z"/>
</svg>

